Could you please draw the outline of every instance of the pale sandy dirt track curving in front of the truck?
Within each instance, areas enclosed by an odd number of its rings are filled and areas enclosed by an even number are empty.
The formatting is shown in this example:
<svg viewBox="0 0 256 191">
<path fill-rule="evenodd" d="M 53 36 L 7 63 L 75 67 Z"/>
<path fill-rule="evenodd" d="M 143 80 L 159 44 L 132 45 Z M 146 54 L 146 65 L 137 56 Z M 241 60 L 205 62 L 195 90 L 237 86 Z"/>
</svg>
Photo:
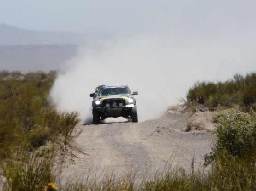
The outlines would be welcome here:
<svg viewBox="0 0 256 191">
<path fill-rule="evenodd" d="M 203 170 L 203 157 L 214 141 L 212 114 L 191 114 L 176 106 L 155 120 L 81 124 L 77 127 L 80 133 L 68 148 L 71 154 L 65 157 L 63 182 L 111 173 L 121 177 L 131 171 L 154 174 L 170 163 L 172 168 L 189 171 L 193 157 L 195 170 Z M 191 121 L 200 123 L 200 128 L 186 132 Z"/>
</svg>

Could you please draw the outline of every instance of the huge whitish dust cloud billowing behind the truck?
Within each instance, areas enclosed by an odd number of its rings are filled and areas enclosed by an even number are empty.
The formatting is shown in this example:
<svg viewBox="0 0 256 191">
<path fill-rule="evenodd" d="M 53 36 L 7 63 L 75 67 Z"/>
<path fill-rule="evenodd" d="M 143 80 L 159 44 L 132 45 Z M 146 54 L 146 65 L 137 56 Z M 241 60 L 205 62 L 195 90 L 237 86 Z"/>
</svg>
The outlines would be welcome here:
<svg viewBox="0 0 256 191">
<path fill-rule="evenodd" d="M 60 70 L 52 102 L 60 110 L 77 110 L 89 118 L 89 93 L 97 85 L 128 84 L 139 93 L 137 111 L 143 121 L 177 104 L 197 80 L 226 80 L 255 70 L 256 29 L 250 27 L 254 20 L 244 23 L 232 19 L 235 12 L 218 11 L 214 17 L 216 12 L 205 10 L 203 19 L 191 15 L 180 19 L 182 14 L 177 13 L 170 20 L 163 13 L 161 21 L 152 21 L 137 33 L 81 47 Z"/>
</svg>

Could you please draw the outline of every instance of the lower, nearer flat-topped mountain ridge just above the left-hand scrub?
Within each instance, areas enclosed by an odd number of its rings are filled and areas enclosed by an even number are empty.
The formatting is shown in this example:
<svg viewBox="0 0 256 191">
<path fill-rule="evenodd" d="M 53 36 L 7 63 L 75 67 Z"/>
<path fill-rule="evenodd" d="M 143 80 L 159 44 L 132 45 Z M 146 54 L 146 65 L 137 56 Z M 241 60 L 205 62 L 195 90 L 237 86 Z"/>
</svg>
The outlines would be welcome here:
<svg viewBox="0 0 256 191">
<path fill-rule="evenodd" d="M 77 54 L 78 48 L 78 45 L 0 46 L 0 70 L 26 73 L 59 69 L 61 64 Z"/>
</svg>

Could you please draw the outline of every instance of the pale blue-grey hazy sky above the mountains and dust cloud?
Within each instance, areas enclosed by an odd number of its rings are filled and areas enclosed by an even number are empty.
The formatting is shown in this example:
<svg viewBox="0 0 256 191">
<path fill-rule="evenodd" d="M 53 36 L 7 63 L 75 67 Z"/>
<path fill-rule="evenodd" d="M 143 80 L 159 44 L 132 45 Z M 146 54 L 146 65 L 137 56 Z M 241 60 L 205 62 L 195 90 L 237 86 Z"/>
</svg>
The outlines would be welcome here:
<svg viewBox="0 0 256 191">
<path fill-rule="evenodd" d="M 0 23 L 75 32 L 139 31 L 161 21 L 255 28 L 255 10 L 255 0 L 0 0 Z"/>
</svg>

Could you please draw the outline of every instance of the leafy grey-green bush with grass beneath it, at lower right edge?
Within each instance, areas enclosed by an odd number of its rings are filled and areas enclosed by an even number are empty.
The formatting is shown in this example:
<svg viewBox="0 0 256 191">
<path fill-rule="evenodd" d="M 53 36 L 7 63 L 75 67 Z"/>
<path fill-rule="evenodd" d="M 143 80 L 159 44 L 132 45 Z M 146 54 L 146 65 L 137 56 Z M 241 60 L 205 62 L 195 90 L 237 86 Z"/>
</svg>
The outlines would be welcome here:
<svg viewBox="0 0 256 191">
<path fill-rule="evenodd" d="M 256 115 L 228 109 L 214 121 L 216 145 L 205 155 L 211 163 L 211 190 L 256 190 Z"/>
</svg>

